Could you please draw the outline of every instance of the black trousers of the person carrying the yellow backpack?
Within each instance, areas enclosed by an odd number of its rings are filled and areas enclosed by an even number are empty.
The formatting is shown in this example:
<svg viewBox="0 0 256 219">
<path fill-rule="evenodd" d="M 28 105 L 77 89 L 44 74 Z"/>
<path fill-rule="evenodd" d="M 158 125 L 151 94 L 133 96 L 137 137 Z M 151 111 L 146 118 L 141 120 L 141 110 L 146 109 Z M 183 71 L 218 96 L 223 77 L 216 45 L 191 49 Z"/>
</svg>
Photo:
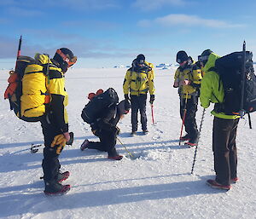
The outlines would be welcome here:
<svg viewBox="0 0 256 219">
<path fill-rule="evenodd" d="M 44 182 L 54 182 L 58 172 L 61 168 L 59 162 L 59 154 L 56 153 L 55 147 L 50 147 L 55 135 L 60 135 L 61 130 L 55 126 L 54 118 L 47 118 L 44 116 L 41 119 L 41 126 L 44 134 L 44 159 L 42 167 L 44 171 Z"/>
</svg>

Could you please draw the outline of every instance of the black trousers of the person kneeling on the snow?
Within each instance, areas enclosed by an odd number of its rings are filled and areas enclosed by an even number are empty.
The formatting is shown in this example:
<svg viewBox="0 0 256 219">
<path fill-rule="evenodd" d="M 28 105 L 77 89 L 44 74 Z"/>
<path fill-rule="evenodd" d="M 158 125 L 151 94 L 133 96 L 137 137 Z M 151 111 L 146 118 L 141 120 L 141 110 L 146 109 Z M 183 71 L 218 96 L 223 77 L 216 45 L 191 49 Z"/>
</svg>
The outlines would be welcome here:
<svg viewBox="0 0 256 219">
<path fill-rule="evenodd" d="M 100 141 L 89 141 L 88 148 L 96 149 L 102 152 L 108 152 L 108 156 L 115 157 L 118 155 L 116 145 L 116 133 L 113 130 L 97 131 L 96 135 Z"/>
</svg>

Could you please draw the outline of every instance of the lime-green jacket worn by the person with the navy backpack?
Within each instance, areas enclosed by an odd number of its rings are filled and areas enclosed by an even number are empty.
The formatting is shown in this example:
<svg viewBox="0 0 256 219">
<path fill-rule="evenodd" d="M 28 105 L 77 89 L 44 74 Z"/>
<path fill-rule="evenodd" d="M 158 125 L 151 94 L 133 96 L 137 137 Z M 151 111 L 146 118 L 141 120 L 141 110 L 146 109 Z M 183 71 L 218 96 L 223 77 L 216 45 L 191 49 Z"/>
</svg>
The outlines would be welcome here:
<svg viewBox="0 0 256 219">
<path fill-rule="evenodd" d="M 215 66 L 215 61 L 220 56 L 212 53 L 209 55 L 206 66 L 203 67 L 203 72 L 205 72 L 204 77 L 201 80 L 201 94 L 200 101 L 201 107 L 207 108 L 210 103 L 221 103 L 224 101 L 224 87 L 219 79 L 218 73 L 213 72 L 210 68 Z M 240 118 L 237 115 L 226 115 L 224 112 L 215 112 L 212 110 L 212 115 L 218 118 L 225 119 L 236 119 Z"/>
</svg>

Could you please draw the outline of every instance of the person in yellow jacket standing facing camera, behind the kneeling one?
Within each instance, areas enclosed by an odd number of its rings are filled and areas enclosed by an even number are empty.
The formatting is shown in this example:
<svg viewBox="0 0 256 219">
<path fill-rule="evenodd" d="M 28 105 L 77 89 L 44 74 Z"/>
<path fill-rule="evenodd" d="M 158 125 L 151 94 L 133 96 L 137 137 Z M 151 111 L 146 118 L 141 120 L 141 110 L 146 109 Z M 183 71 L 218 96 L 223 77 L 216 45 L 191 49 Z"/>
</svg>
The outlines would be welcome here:
<svg viewBox="0 0 256 219">
<path fill-rule="evenodd" d="M 148 134 L 146 101 L 150 94 L 150 104 L 154 102 L 154 70 L 153 64 L 145 61 L 143 54 L 137 55 L 132 66 L 125 74 L 123 90 L 125 100 L 131 101 L 131 135 L 137 133 L 137 113 L 140 111 L 143 134 Z M 130 97 L 129 97 L 130 93 Z"/>
</svg>

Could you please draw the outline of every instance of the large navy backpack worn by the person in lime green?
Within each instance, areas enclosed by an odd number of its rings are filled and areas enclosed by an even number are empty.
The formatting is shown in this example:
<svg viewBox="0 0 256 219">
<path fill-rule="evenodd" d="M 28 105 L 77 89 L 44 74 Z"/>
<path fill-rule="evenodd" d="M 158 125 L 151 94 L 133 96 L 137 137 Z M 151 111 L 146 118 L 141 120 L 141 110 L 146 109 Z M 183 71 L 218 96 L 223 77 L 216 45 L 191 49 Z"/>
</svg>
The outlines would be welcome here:
<svg viewBox="0 0 256 219">
<path fill-rule="evenodd" d="M 224 55 L 215 62 L 214 71 L 224 85 L 224 103 L 218 103 L 219 112 L 228 115 L 256 111 L 256 77 L 253 53 L 245 51 Z"/>
</svg>

